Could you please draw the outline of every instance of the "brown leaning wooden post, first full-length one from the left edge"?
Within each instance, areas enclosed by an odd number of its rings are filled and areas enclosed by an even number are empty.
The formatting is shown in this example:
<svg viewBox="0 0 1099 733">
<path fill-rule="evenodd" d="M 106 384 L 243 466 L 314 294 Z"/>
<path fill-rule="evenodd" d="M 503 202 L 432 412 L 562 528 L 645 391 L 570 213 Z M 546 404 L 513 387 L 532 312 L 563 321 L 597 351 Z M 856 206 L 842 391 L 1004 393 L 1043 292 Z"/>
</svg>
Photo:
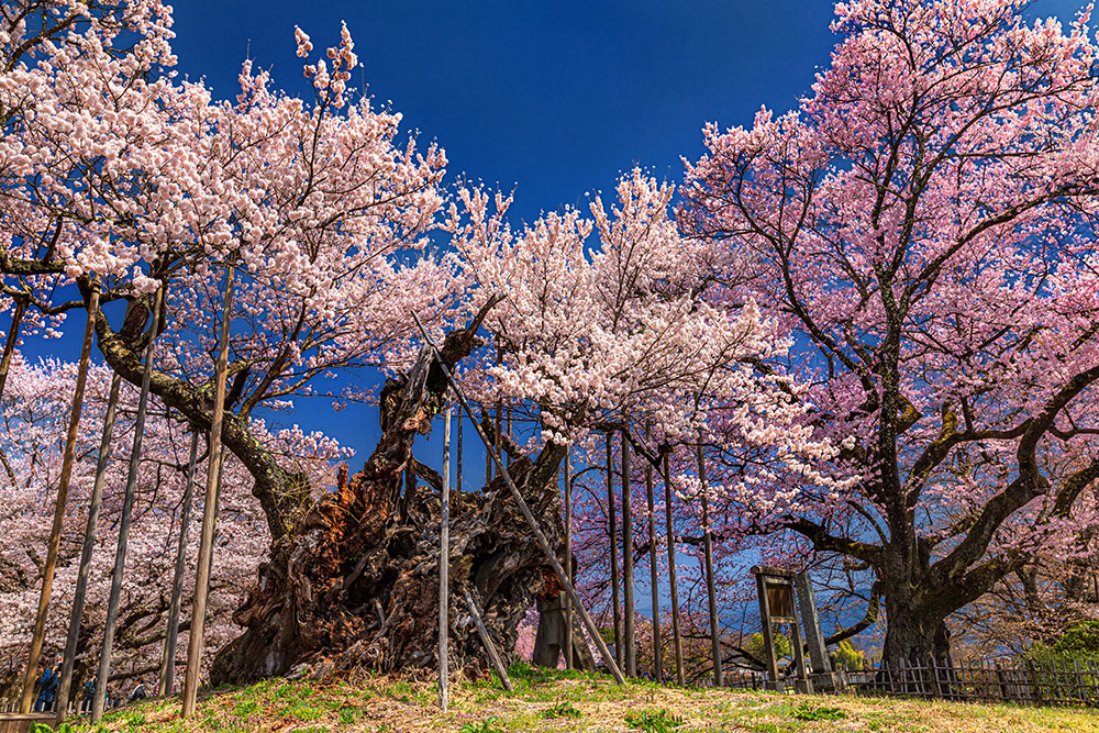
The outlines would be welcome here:
<svg viewBox="0 0 1099 733">
<path fill-rule="evenodd" d="M 57 480 L 57 502 L 54 506 L 54 523 L 49 529 L 46 547 L 46 564 L 42 569 L 42 593 L 38 596 L 38 613 L 31 634 L 31 653 L 26 658 L 26 674 L 23 676 L 23 697 L 20 712 L 31 712 L 34 702 L 34 684 L 37 680 L 38 657 L 46 637 L 46 612 L 49 610 L 49 595 L 54 588 L 54 573 L 57 570 L 57 551 L 62 543 L 62 524 L 65 521 L 65 506 L 68 503 L 69 480 L 73 477 L 73 462 L 76 459 L 77 431 L 80 427 L 80 410 L 84 408 L 84 389 L 88 382 L 88 363 L 91 360 L 91 342 L 96 335 L 96 316 L 99 314 L 99 286 L 91 286 L 88 301 L 88 321 L 84 327 L 84 343 L 80 346 L 80 363 L 76 371 L 76 390 L 73 392 L 73 411 L 69 414 L 68 433 L 65 436 L 65 453 L 62 457 L 62 474 Z"/>
</svg>

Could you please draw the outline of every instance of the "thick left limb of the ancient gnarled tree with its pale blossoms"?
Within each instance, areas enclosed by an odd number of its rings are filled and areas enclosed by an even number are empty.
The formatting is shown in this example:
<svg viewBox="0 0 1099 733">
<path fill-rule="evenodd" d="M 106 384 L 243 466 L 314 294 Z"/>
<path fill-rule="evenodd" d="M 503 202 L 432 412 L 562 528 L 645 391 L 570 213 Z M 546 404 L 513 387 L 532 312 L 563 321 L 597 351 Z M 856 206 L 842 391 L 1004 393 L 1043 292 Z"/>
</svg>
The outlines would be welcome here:
<svg viewBox="0 0 1099 733">
<path fill-rule="evenodd" d="M 170 347 L 152 390 L 207 429 L 220 271 L 236 263 L 224 440 L 256 479 L 271 536 L 281 536 L 309 490 L 255 440 L 251 418 L 309 393 L 329 370 L 392 358 L 408 313 L 430 318 L 445 300 L 446 269 L 403 257 L 425 245 L 445 156 L 399 143 L 399 114 L 353 99 L 347 80 L 358 62 L 346 29 L 315 62 L 297 32 L 311 99 L 276 90 L 248 60 L 236 100 L 217 101 L 201 84 L 176 79 L 170 9 L 159 2 L 4 9 L 8 304 L 25 300 L 48 324 L 102 288 L 99 349 L 138 384 L 136 341 L 164 288 Z M 112 322 L 119 300 L 127 314 Z"/>
</svg>

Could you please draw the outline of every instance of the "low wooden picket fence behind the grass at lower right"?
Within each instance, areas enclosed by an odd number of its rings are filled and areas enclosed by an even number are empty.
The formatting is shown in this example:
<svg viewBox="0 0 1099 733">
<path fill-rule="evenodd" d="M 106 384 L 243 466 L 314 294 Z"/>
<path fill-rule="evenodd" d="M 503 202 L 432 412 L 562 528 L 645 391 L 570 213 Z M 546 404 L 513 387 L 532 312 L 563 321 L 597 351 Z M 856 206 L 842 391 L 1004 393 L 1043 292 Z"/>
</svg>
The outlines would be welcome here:
<svg viewBox="0 0 1099 733">
<path fill-rule="evenodd" d="M 899 696 L 954 702 L 1013 702 L 1029 706 L 1099 707 L 1099 662 L 997 659 L 936 662 L 913 665 L 902 660 L 878 669 L 837 669 L 846 691 L 867 696 Z M 784 678 L 785 681 L 792 681 Z M 732 670 L 725 687 L 763 689 L 763 673 Z"/>
</svg>

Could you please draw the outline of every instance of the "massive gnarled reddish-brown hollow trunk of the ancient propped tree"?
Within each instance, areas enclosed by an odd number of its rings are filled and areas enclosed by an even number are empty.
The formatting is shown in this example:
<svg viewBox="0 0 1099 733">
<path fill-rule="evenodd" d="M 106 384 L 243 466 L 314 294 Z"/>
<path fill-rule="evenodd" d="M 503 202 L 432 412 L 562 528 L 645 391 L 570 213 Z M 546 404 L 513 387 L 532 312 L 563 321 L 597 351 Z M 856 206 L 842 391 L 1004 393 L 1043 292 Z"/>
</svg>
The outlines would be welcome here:
<svg viewBox="0 0 1099 733">
<path fill-rule="evenodd" d="M 449 334 L 453 366 L 476 345 L 469 327 Z M 442 407 L 446 382 L 424 349 L 409 375 L 382 390 L 382 436 L 363 469 L 325 495 L 276 544 L 234 619 L 242 636 L 221 649 L 212 681 L 246 682 L 297 669 L 323 674 L 365 666 L 406 671 L 437 666 L 439 477 L 412 457 Z M 559 547 L 557 470 L 565 449 L 547 445 L 534 459 L 514 452 L 509 474 Z M 412 467 L 426 487 L 401 491 Z M 455 493 L 451 508 L 451 658 L 477 675 L 487 657 L 465 606 L 478 600 L 503 654 L 536 596 L 556 578 L 502 479 L 477 493 Z"/>
</svg>

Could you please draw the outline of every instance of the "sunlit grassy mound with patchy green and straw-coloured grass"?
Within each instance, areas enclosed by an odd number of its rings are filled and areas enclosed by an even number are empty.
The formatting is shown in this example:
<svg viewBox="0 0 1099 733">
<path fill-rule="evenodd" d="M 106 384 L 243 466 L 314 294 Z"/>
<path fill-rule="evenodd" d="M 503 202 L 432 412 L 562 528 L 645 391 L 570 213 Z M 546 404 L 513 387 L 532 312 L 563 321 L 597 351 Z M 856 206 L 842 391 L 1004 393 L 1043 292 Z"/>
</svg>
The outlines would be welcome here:
<svg viewBox="0 0 1099 733">
<path fill-rule="evenodd" d="M 543 671 L 517 665 L 515 691 L 496 678 L 456 682 L 451 710 L 440 712 L 436 688 L 388 677 L 325 684 L 270 679 L 203 693 L 197 713 L 179 719 L 179 700 L 116 710 L 95 730 L 106 733 L 322 733 L 356 731 L 503 733 L 522 731 L 1064 731 L 1099 733 L 1099 710 L 1017 708 L 882 698 L 792 696 L 700 690 L 633 681 L 619 687 L 602 675 Z M 89 728 L 73 726 L 76 731 Z"/>
</svg>

